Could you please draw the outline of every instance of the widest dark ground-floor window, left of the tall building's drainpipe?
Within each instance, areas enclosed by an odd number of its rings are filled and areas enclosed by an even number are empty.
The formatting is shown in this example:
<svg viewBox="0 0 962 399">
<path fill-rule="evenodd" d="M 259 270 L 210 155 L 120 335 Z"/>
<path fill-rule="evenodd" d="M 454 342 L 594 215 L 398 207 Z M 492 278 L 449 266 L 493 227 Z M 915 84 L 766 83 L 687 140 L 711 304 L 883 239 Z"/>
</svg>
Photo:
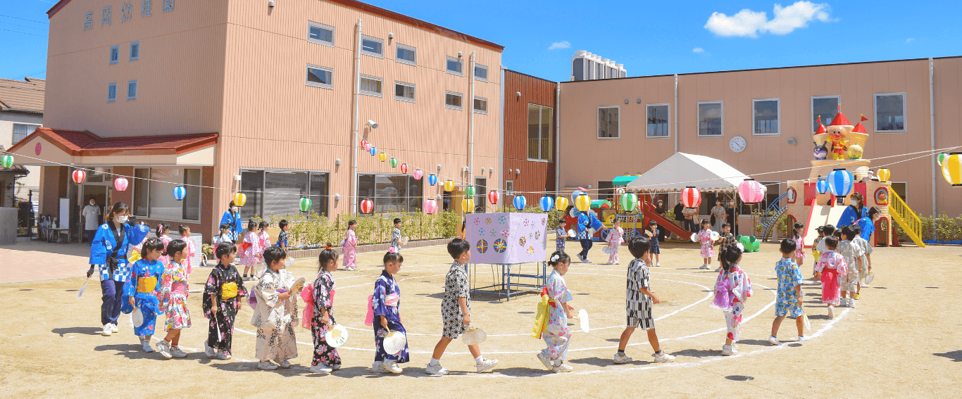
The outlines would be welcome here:
<svg viewBox="0 0 962 399">
<path fill-rule="evenodd" d="M 311 212 L 326 216 L 329 182 L 327 172 L 241 169 L 241 192 L 247 196 L 241 218 L 255 214 L 268 220 L 287 218 L 300 212 L 301 198 L 311 199 Z"/>
</svg>

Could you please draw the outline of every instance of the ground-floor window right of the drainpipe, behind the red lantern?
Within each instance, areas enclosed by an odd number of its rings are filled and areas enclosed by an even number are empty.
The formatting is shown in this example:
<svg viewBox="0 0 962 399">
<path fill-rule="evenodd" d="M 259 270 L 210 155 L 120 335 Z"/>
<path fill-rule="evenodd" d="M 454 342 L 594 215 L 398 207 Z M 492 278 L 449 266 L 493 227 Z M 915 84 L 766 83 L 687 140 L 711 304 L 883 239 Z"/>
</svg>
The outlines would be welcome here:
<svg viewBox="0 0 962 399">
<path fill-rule="evenodd" d="M 418 212 L 423 207 L 421 185 L 410 175 L 361 174 L 358 197 L 374 201 L 374 212 Z"/>
</svg>

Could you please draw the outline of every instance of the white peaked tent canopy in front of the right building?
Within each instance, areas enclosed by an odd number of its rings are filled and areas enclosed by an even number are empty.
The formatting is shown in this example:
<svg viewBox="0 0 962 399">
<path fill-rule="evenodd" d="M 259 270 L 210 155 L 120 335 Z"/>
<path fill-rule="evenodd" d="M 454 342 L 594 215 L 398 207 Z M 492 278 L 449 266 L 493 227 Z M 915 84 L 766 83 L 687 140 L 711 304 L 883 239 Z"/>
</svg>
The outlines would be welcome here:
<svg viewBox="0 0 962 399">
<path fill-rule="evenodd" d="M 685 187 L 696 187 L 699 191 L 731 191 L 738 189 L 739 183 L 747 178 L 745 173 L 720 160 L 675 153 L 625 188 L 647 192 L 681 191 Z"/>
</svg>

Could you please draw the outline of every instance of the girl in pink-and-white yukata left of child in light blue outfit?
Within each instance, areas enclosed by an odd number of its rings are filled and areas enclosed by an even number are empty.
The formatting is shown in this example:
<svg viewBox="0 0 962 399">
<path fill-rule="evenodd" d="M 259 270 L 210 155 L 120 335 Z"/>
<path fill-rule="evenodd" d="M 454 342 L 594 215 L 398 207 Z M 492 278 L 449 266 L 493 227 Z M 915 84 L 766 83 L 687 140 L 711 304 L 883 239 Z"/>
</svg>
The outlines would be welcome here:
<svg viewBox="0 0 962 399">
<path fill-rule="evenodd" d="M 722 346 L 722 355 L 738 354 L 738 336 L 742 332 L 742 313 L 745 312 L 745 301 L 751 296 L 751 280 L 745 271 L 738 267 L 742 262 L 741 244 L 728 245 L 721 249 L 722 272 L 715 280 L 715 300 L 712 308 L 724 312 L 724 321 L 728 327 Z"/>
</svg>

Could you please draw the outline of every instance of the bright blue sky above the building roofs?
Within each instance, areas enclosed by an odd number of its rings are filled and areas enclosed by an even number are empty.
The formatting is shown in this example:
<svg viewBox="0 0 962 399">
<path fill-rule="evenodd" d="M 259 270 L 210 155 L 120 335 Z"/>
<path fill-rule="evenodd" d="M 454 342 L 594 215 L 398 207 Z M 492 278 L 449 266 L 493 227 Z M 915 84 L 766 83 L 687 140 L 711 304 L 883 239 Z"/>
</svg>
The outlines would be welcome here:
<svg viewBox="0 0 962 399">
<path fill-rule="evenodd" d="M 569 79 L 575 50 L 628 76 L 962 55 L 958 2 L 367 2 L 504 45 L 506 67 L 550 80 Z M 54 3 L 0 0 L 0 77 L 45 76 Z"/>
</svg>

